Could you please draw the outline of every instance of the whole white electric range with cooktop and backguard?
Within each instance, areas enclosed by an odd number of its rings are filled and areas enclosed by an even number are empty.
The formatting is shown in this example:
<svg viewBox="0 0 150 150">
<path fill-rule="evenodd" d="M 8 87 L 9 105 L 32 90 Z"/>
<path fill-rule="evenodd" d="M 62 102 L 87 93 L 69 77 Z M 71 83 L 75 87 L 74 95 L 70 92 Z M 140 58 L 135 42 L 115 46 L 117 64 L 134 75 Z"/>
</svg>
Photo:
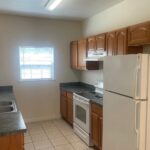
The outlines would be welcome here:
<svg viewBox="0 0 150 150">
<path fill-rule="evenodd" d="M 95 92 L 83 92 L 73 94 L 73 126 L 75 133 L 88 145 L 92 146 L 90 140 L 90 100 L 93 98 L 102 99 L 103 83 L 95 86 Z"/>
</svg>

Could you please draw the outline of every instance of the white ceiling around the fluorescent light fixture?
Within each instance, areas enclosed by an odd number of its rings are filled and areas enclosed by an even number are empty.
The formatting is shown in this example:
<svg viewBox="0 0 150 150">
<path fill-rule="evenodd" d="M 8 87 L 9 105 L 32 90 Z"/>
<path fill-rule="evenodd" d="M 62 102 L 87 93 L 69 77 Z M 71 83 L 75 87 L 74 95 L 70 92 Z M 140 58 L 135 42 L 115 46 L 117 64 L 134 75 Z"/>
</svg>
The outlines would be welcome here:
<svg viewBox="0 0 150 150">
<path fill-rule="evenodd" d="M 53 11 L 44 8 L 47 0 L 0 0 L 0 13 L 83 20 L 123 0 L 63 0 Z"/>
</svg>

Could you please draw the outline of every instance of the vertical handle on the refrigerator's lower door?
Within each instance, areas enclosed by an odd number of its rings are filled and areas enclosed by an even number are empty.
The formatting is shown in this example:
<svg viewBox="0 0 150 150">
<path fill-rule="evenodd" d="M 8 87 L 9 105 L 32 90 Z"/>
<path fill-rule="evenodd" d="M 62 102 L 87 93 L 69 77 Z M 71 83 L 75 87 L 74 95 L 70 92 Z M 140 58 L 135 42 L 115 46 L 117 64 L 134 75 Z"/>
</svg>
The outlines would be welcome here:
<svg viewBox="0 0 150 150">
<path fill-rule="evenodd" d="M 139 149 L 139 139 L 140 139 L 140 132 L 139 132 L 139 109 L 140 109 L 140 102 L 135 102 L 135 132 L 136 132 L 136 147 Z"/>
</svg>

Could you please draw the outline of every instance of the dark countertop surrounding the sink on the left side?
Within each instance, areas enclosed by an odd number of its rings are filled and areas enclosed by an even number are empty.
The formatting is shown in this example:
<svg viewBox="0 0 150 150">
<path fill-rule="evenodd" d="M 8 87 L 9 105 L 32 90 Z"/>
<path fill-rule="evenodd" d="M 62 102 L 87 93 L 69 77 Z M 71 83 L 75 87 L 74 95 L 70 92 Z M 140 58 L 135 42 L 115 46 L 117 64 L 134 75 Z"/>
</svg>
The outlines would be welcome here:
<svg viewBox="0 0 150 150">
<path fill-rule="evenodd" d="M 0 86 L 1 101 L 12 101 L 16 104 L 12 86 Z M 16 112 L 0 113 L 0 136 L 25 132 L 26 129 L 25 122 L 18 107 Z"/>
</svg>

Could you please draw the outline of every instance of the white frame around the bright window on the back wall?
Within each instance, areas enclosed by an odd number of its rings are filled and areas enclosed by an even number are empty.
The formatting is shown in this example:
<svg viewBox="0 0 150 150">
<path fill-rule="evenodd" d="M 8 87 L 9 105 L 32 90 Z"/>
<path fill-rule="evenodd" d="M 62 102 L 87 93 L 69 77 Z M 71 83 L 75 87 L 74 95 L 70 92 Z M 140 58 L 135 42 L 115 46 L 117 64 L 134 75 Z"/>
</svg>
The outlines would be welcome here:
<svg viewBox="0 0 150 150">
<path fill-rule="evenodd" d="M 20 51 L 21 51 L 21 48 L 52 48 L 53 49 L 53 65 L 52 65 L 52 78 L 37 78 L 37 79 L 22 79 L 21 78 L 21 65 L 20 65 Z M 28 81 L 53 81 L 55 80 L 55 50 L 54 50 L 54 47 L 48 47 L 48 46 L 43 46 L 43 47 L 33 47 L 33 46 L 19 46 L 19 81 L 21 82 L 28 82 Z"/>
</svg>

